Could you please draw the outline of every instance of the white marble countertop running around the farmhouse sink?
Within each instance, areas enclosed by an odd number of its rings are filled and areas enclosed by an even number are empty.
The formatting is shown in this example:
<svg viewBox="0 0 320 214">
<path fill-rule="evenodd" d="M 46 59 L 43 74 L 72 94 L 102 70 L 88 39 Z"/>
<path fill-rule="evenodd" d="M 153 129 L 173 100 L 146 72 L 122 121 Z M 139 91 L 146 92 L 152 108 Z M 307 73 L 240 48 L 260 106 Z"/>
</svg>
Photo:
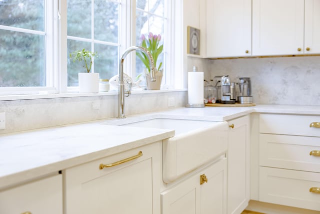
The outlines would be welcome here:
<svg viewBox="0 0 320 214">
<path fill-rule="evenodd" d="M 320 115 L 319 106 L 175 108 L 0 136 L 0 189 L 58 170 L 143 146 L 174 135 L 173 130 L 118 126 L 152 118 L 227 121 L 253 112 Z"/>
</svg>

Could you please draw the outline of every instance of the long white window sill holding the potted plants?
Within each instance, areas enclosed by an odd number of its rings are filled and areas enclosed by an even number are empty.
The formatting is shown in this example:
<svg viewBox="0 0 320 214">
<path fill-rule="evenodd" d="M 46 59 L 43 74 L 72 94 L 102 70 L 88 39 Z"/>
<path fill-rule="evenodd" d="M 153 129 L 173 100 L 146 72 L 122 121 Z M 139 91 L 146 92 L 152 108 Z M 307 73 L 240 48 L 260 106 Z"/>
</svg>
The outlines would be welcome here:
<svg viewBox="0 0 320 214">
<path fill-rule="evenodd" d="M 144 90 L 132 91 L 131 94 L 157 94 L 167 92 L 187 91 L 187 89 L 165 89 L 165 90 Z M 110 96 L 117 95 L 116 91 L 99 92 L 99 93 L 59 93 L 59 94 L 25 94 L 25 95 L 0 95 L 0 101 L 10 100 L 33 100 L 33 99 L 51 99 L 66 97 L 93 97 L 93 96 Z"/>
</svg>

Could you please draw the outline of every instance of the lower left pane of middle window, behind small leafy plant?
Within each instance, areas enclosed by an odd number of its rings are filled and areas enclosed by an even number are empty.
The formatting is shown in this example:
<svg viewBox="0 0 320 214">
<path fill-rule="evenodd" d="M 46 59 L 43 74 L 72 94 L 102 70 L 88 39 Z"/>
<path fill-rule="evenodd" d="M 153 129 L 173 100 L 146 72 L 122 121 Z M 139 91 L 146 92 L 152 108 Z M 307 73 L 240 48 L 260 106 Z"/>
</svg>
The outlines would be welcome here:
<svg viewBox="0 0 320 214">
<path fill-rule="evenodd" d="M 83 48 L 86 50 L 91 50 L 91 44 L 88 42 L 80 42 L 75 40 L 68 40 L 67 41 L 67 56 L 68 56 L 68 86 L 78 86 L 78 73 L 79 72 L 86 72 L 84 62 L 75 61 L 73 62 L 69 55 L 73 51 L 82 50 Z M 92 70 L 91 70 L 92 71 Z"/>
</svg>

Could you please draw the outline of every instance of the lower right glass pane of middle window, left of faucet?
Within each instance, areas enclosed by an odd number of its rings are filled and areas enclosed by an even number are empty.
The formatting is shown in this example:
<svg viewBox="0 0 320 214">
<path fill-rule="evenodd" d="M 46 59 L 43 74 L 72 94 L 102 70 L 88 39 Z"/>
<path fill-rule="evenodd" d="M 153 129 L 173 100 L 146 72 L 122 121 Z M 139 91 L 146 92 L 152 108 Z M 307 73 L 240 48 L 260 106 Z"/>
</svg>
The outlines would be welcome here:
<svg viewBox="0 0 320 214">
<path fill-rule="evenodd" d="M 94 61 L 94 72 L 99 73 L 100 79 L 110 79 L 118 74 L 118 47 L 95 44 L 98 58 Z"/>
</svg>

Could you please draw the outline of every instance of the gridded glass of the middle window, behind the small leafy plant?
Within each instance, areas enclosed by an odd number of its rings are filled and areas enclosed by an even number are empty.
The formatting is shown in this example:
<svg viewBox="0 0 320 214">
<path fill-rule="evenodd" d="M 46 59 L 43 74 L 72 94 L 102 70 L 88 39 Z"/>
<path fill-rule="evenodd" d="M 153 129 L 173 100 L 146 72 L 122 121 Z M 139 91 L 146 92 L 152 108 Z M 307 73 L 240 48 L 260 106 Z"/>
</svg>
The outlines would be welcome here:
<svg viewBox="0 0 320 214">
<path fill-rule="evenodd" d="M 83 7 L 86 8 L 84 12 Z M 67 3 L 68 55 L 83 48 L 97 52 L 98 58 L 92 65 L 92 72 L 99 73 L 100 79 L 110 79 L 117 74 L 120 47 L 119 12 L 119 1 L 68 0 Z M 81 65 L 68 59 L 68 86 L 77 86 L 79 72 L 83 72 Z"/>
</svg>

